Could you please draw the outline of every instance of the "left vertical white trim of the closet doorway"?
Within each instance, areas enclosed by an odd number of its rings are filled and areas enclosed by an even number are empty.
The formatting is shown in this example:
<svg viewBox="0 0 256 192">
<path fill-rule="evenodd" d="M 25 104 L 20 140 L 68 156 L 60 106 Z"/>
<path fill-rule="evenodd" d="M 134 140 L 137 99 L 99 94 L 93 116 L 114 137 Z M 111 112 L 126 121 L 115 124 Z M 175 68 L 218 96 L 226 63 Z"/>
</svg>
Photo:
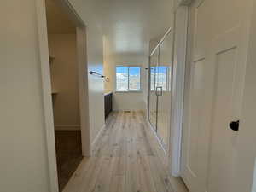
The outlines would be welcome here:
<svg viewBox="0 0 256 192">
<path fill-rule="evenodd" d="M 51 84 L 49 73 L 49 49 L 47 38 L 47 24 L 44 0 L 37 0 L 38 16 L 38 46 L 42 75 L 42 96 L 44 104 L 45 139 L 47 145 L 47 158 L 49 165 L 49 189 L 50 192 L 58 192 L 58 177 L 55 154 L 55 127 L 53 120 L 53 108 L 51 99 Z"/>
</svg>

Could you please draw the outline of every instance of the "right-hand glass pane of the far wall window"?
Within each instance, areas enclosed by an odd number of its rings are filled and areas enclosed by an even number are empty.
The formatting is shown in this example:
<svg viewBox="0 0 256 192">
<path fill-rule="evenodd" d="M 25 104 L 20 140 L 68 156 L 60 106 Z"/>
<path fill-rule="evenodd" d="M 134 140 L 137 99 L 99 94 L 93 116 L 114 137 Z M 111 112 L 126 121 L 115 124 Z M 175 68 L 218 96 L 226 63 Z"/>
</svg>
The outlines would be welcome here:
<svg viewBox="0 0 256 192">
<path fill-rule="evenodd" d="M 129 90 L 141 90 L 141 68 L 129 67 Z"/>
</svg>

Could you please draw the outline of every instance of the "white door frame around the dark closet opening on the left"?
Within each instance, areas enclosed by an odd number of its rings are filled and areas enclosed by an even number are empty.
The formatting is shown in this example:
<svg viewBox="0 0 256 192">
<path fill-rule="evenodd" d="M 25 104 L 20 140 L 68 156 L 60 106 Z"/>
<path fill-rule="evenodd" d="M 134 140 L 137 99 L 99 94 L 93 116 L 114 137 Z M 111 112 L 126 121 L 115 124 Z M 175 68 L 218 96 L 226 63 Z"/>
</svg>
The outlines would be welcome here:
<svg viewBox="0 0 256 192">
<path fill-rule="evenodd" d="M 61 8 L 67 13 L 70 20 L 77 27 L 77 49 L 78 49 L 78 71 L 79 71 L 79 108 L 81 124 L 81 140 L 83 156 L 90 156 L 90 121 L 89 121 L 89 95 L 88 95 L 88 69 L 86 48 L 86 25 L 79 17 L 68 0 L 57 1 Z M 53 107 L 51 98 L 51 83 L 49 70 L 49 45 L 46 22 L 45 0 L 36 1 L 37 25 L 38 25 L 38 47 L 42 79 L 42 99 L 44 110 L 45 140 L 47 146 L 49 191 L 58 192 L 58 177 L 55 154 L 55 127 L 53 118 Z"/>
</svg>

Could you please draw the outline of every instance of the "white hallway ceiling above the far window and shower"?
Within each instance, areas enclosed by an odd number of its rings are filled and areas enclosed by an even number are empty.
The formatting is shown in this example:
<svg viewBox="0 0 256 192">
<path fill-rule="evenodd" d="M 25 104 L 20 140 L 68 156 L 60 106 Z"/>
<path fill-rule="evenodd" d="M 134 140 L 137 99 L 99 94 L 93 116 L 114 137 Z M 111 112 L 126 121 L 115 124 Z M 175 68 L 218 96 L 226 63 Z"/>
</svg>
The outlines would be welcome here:
<svg viewBox="0 0 256 192">
<path fill-rule="evenodd" d="M 148 42 L 172 24 L 172 0 L 95 0 L 113 55 L 148 55 Z"/>
</svg>

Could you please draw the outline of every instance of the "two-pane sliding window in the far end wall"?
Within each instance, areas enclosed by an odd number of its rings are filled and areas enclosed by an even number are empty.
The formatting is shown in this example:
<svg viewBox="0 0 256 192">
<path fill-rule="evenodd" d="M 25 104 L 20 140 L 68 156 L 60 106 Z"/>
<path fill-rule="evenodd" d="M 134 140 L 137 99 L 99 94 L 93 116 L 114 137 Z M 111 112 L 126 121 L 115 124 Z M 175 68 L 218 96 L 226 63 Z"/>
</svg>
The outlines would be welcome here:
<svg viewBox="0 0 256 192">
<path fill-rule="evenodd" d="M 116 67 L 116 91 L 141 90 L 141 67 Z"/>
</svg>

